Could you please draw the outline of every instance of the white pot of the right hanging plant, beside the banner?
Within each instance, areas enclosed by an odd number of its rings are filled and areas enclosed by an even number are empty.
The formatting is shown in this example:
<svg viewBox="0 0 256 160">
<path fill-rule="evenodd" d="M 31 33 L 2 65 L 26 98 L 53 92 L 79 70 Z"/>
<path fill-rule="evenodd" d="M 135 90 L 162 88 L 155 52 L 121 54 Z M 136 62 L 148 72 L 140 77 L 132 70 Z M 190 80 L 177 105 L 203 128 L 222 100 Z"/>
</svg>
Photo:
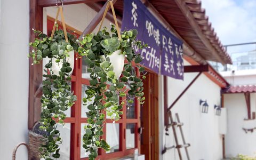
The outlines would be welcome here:
<svg viewBox="0 0 256 160">
<path fill-rule="evenodd" d="M 112 54 L 107 55 L 107 58 L 109 58 L 109 62 L 111 63 L 110 66 L 113 66 L 113 71 L 117 79 L 121 76 L 124 68 L 125 56 L 121 52 L 121 50 L 117 50 Z M 106 60 L 104 56 L 102 56 L 102 58 Z"/>
</svg>

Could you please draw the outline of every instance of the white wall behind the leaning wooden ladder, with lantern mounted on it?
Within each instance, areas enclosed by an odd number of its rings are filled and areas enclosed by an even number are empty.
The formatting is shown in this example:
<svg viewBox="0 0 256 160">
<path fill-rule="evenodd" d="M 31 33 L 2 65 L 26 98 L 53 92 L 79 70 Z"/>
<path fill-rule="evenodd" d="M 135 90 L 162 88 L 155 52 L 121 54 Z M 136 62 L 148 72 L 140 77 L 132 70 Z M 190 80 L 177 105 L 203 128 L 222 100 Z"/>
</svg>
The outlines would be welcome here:
<svg viewBox="0 0 256 160">
<path fill-rule="evenodd" d="M 185 65 L 189 64 L 186 62 Z M 183 82 L 168 78 L 169 106 L 196 75 L 197 73 L 185 74 Z M 162 80 L 162 78 L 159 79 Z M 199 107 L 200 99 L 207 100 L 209 105 L 208 114 L 201 113 L 201 107 Z M 222 158 L 219 116 L 215 116 L 214 105 L 220 105 L 220 87 L 202 74 L 172 109 L 173 117 L 175 113 L 178 113 L 180 121 L 184 123 L 182 126 L 183 133 L 185 134 L 186 142 L 191 145 L 188 148 L 190 159 L 217 160 Z M 163 107 L 159 109 L 163 109 Z M 165 138 L 167 147 L 175 145 L 172 129 L 169 129 L 169 136 L 164 134 L 164 121 L 161 117 L 163 117 L 163 110 L 160 111 L 159 115 L 159 125 L 162 126 L 162 130 L 159 131 L 161 135 L 160 140 L 163 142 L 160 144 L 160 153 L 164 147 Z M 161 129 L 161 127 L 159 128 Z M 179 135 L 179 142 L 182 144 L 178 128 L 177 133 Z M 182 157 L 186 159 L 185 149 L 181 148 L 181 151 Z M 159 159 L 179 159 L 177 149 L 168 150 L 163 156 L 160 155 Z"/>
</svg>

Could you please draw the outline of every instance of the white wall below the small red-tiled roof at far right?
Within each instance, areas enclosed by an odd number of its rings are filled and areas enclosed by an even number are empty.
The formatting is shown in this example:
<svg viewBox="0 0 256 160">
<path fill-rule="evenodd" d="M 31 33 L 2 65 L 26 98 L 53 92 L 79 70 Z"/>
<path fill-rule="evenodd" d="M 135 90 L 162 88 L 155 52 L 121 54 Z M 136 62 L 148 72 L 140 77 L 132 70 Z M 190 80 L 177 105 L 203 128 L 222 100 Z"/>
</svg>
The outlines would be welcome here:
<svg viewBox="0 0 256 160">
<path fill-rule="evenodd" d="M 251 93 L 251 111 L 255 111 L 256 94 Z M 225 136 L 226 156 L 237 154 L 253 156 L 256 153 L 256 134 L 242 130 L 244 118 L 247 118 L 247 108 L 244 94 L 225 94 L 224 106 L 228 113 L 228 131 Z M 256 126 L 256 124 L 255 124 Z"/>
</svg>

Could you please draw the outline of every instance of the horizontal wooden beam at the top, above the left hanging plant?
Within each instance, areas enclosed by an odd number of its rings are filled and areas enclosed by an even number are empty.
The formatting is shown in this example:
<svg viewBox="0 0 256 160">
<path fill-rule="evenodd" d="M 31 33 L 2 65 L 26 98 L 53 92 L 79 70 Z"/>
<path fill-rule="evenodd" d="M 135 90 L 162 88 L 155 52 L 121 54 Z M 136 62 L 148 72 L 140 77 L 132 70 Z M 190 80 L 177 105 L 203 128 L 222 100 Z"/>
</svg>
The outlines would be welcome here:
<svg viewBox="0 0 256 160">
<path fill-rule="evenodd" d="M 79 4 L 79 3 L 94 3 L 94 2 L 101 2 L 104 0 L 62 0 L 62 1 L 64 5 L 67 5 L 67 4 Z M 58 5 L 61 5 L 60 1 L 58 2 L 59 2 Z M 38 0 L 37 4 L 41 7 L 55 6 L 56 0 Z"/>
</svg>

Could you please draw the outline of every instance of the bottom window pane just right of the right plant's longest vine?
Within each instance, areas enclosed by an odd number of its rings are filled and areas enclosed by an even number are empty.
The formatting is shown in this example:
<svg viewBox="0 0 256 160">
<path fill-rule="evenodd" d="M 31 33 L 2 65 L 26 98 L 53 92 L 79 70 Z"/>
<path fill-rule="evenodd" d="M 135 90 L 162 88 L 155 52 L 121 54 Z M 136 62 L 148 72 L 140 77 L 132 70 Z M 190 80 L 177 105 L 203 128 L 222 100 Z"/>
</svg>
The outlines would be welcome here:
<svg viewBox="0 0 256 160">
<path fill-rule="evenodd" d="M 106 141 L 110 146 L 110 150 L 106 151 L 106 153 L 113 153 L 115 151 L 119 151 L 119 124 L 107 123 L 106 130 Z"/>
</svg>

